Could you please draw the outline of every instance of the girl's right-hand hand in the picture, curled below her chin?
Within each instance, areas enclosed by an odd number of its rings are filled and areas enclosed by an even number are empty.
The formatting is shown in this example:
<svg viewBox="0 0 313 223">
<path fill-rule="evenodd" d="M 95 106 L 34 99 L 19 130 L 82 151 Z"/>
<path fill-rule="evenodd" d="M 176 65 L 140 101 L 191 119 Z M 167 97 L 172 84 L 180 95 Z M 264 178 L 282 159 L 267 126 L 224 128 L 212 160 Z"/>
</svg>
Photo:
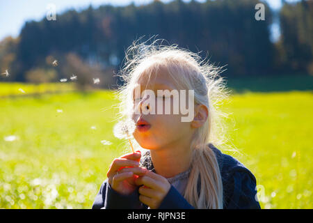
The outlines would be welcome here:
<svg viewBox="0 0 313 223">
<path fill-rule="evenodd" d="M 145 176 L 139 176 L 135 180 L 139 187 L 139 200 L 151 209 L 159 208 L 166 194 L 170 190 L 168 180 L 152 171 L 147 171 Z"/>
</svg>

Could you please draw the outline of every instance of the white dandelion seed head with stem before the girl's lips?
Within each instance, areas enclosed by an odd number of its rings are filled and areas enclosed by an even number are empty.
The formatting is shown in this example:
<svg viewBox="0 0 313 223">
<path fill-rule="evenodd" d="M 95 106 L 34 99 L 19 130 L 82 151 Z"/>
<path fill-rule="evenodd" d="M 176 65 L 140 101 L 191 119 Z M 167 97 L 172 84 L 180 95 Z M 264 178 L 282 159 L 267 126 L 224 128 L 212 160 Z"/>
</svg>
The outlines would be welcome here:
<svg viewBox="0 0 313 223">
<path fill-rule="evenodd" d="M 115 137 L 117 137 L 118 139 L 128 139 L 129 144 L 131 145 L 131 151 L 133 151 L 133 153 L 135 153 L 135 151 L 133 148 L 133 144 L 131 144 L 130 138 L 135 129 L 136 124 L 131 118 L 127 119 L 126 121 L 118 122 L 116 125 L 114 125 L 113 128 L 113 133 Z"/>
</svg>

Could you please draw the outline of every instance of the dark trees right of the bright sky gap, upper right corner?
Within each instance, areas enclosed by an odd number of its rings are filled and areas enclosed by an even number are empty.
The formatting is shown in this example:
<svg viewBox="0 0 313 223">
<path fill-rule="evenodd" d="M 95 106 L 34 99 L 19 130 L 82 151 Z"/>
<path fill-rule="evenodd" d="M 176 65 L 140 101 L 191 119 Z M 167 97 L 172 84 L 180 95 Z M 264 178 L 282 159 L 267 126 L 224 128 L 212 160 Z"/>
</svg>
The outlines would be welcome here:
<svg viewBox="0 0 313 223">
<path fill-rule="evenodd" d="M 284 4 L 280 10 L 280 65 L 289 72 L 313 74 L 313 1 Z"/>
</svg>

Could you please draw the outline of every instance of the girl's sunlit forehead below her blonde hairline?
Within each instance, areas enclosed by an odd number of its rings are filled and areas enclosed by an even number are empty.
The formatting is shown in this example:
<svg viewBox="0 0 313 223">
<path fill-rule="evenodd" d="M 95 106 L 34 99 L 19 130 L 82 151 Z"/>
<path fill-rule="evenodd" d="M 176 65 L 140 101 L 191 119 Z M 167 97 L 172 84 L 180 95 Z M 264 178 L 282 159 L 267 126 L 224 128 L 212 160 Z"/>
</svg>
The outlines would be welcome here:
<svg viewBox="0 0 313 223">
<path fill-rule="evenodd" d="M 175 79 L 172 78 L 168 70 L 162 66 L 158 69 L 147 70 L 143 72 L 136 82 L 136 86 L 150 87 L 170 87 L 175 89 Z"/>
</svg>

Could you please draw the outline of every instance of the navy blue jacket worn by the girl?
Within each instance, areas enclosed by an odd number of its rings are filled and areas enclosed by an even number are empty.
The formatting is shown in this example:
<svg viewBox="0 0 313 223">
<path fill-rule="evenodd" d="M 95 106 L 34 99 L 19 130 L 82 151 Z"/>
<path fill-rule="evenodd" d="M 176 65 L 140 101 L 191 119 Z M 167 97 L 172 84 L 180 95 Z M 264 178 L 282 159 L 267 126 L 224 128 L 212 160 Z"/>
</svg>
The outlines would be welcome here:
<svg viewBox="0 0 313 223">
<path fill-rule="evenodd" d="M 209 147 L 214 151 L 220 175 L 223 181 L 223 208 L 224 209 L 259 209 L 257 201 L 256 179 L 249 169 L 243 166 L 241 162 L 230 155 L 221 153 L 213 144 Z M 153 168 L 153 167 L 152 167 Z M 149 168 L 148 168 L 149 169 Z M 200 185 L 198 184 L 198 188 Z M 138 190 L 132 194 L 124 195 L 115 192 L 104 180 L 100 190 L 93 203 L 94 209 L 142 209 L 148 208 L 138 199 Z M 175 187 L 171 185 L 168 194 L 164 197 L 159 209 L 193 209 L 186 199 L 180 194 Z"/>
</svg>

